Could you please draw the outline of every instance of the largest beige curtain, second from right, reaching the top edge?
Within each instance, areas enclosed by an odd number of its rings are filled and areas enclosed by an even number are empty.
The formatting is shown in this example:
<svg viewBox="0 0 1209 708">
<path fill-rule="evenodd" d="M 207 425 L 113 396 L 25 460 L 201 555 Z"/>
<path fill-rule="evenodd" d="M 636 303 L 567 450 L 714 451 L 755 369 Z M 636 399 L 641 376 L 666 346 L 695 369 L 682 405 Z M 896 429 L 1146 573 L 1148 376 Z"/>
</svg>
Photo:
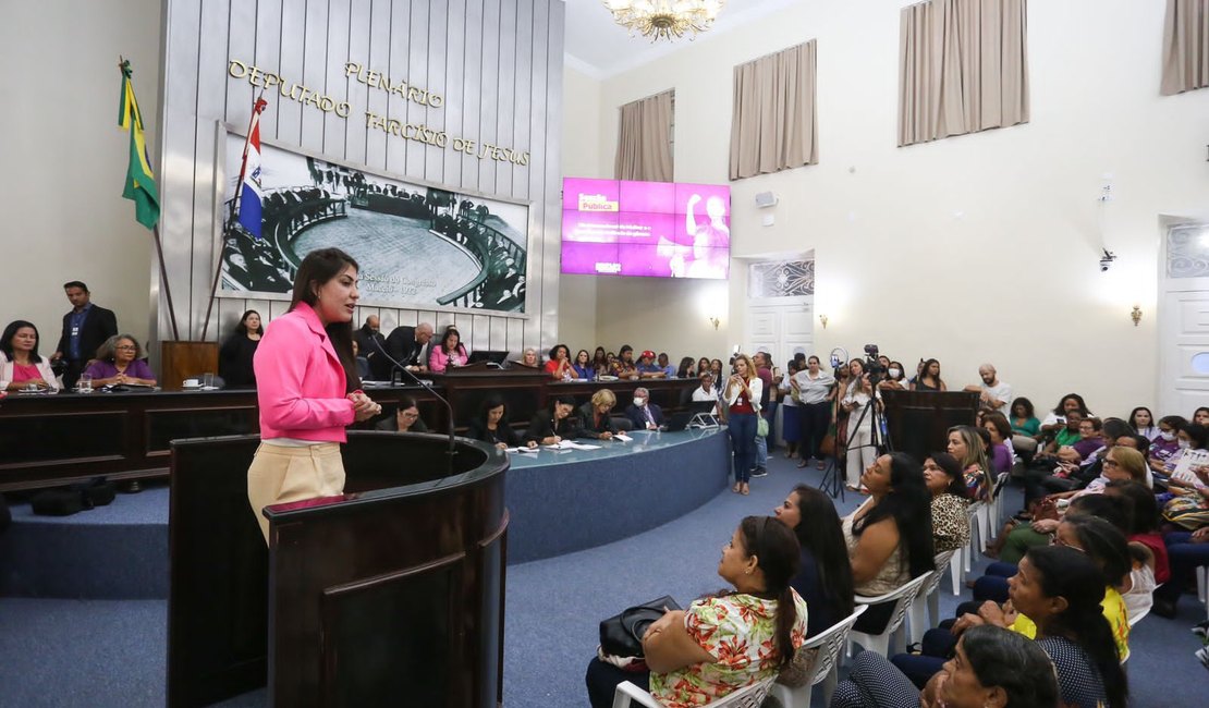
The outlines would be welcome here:
<svg viewBox="0 0 1209 708">
<path fill-rule="evenodd" d="M 902 8 L 898 145 L 1029 121 L 1028 0 Z"/>
</svg>

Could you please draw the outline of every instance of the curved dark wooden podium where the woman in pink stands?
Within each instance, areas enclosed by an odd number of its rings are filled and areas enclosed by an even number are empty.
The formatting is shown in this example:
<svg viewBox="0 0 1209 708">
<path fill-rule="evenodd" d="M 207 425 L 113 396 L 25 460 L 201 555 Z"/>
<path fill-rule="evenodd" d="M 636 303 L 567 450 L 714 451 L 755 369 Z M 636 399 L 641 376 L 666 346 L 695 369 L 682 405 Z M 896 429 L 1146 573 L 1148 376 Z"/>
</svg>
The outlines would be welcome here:
<svg viewBox="0 0 1209 708">
<path fill-rule="evenodd" d="M 248 505 L 258 436 L 173 442 L 168 704 L 268 685 L 278 707 L 503 700 L 508 457 L 349 433 L 345 495 Z"/>
</svg>

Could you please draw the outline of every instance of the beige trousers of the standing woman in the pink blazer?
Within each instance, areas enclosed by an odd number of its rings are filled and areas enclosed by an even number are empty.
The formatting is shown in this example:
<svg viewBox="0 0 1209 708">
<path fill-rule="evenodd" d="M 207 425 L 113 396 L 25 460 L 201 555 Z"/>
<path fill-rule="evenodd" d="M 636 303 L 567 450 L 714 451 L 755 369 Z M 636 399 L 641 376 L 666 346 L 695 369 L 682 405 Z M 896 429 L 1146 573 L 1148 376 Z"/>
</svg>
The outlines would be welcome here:
<svg viewBox="0 0 1209 708">
<path fill-rule="evenodd" d="M 345 463 L 335 442 L 305 447 L 261 442 L 248 468 L 248 501 L 266 544 L 268 520 L 262 513 L 266 506 L 343 493 Z"/>
</svg>

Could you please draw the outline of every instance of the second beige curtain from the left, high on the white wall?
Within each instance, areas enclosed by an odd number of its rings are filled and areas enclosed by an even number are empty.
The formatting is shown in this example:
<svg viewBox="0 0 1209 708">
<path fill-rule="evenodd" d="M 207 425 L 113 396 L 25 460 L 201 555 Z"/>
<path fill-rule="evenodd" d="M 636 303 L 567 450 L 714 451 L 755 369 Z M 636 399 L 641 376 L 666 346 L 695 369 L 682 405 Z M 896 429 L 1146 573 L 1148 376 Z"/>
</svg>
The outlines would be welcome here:
<svg viewBox="0 0 1209 708">
<path fill-rule="evenodd" d="M 730 179 L 818 162 L 815 40 L 735 66 Z"/>
</svg>

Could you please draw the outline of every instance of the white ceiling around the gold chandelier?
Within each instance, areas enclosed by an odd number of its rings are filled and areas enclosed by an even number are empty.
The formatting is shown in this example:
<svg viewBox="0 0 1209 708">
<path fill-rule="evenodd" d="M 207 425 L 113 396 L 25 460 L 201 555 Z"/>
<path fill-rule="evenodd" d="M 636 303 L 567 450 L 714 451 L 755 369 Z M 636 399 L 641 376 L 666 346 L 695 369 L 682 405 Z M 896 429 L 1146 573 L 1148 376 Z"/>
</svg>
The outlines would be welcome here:
<svg viewBox="0 0 1209 708">
<path fill-rule="evenodd" d="M 725 7 L 713 23 L 713 29 L 699 36 L 695 42 L 716 41 L 728 30 L 752 22 L 773 11 L 805 0 L 727 0 Z M 670 54 L 690 42 L 688 36 L 673 42 L 660 40 L 652 43 L 615 22 L 601 0 L 566 0 L 567 34 L 565 54 L 567 65 L 594 76 L 607 79 L 627 71 L 647 62 Z"/>
</svg>

